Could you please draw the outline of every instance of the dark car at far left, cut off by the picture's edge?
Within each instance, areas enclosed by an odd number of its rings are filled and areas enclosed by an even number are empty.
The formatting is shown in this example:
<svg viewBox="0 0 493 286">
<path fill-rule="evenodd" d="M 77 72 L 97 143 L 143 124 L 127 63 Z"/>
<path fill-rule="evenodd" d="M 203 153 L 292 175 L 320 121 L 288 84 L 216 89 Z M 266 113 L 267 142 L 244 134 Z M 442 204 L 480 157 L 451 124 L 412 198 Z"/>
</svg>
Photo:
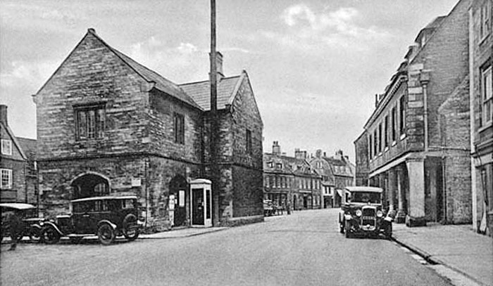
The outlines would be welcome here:
<svg viewBox="0 0 493 286">
<path fill-rule="evenodd" d="M 12 240 L 21 240 L 28 235 L 31 240 L 39 240 L 41 234 L 40 223 L 43 219 L 38 217 L 35 206 L 19 202 L 4 202 L 0 203 L 0 212 L 0 242 L 4 239 L 4 236 L 11 237 Z M 14 220 L 19 225 L 17 232 L 13 232 L 11 229 L 11 223 Z"/>
</svg>

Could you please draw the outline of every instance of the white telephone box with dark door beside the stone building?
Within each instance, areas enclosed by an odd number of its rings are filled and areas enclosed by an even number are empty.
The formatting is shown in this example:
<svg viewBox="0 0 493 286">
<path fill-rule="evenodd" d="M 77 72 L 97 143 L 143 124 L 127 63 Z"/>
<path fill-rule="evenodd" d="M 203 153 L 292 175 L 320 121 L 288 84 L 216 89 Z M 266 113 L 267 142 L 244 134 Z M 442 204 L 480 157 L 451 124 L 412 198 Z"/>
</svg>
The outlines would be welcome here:
<svg viewBox="0 0 493 286">
<path fill-rule="evenodd" d="M 212 183 L 205 178 L 190 182 L 190 225 L 199 227 L 212 226 Z"/>
</svg>

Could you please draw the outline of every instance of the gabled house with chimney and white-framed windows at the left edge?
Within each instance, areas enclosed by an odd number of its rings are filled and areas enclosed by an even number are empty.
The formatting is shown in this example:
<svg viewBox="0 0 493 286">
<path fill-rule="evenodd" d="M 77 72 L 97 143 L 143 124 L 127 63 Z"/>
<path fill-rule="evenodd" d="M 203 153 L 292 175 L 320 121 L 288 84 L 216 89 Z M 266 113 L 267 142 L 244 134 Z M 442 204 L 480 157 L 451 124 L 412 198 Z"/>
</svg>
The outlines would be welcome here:
<svg viewBox="0 0 493 286">
<path fill-rule="evenodd" d="M 0 141 L 0 202 L 37 204 L 36 141 L 13 134 L 6 105 L 0 105 Z"/>
</svg>

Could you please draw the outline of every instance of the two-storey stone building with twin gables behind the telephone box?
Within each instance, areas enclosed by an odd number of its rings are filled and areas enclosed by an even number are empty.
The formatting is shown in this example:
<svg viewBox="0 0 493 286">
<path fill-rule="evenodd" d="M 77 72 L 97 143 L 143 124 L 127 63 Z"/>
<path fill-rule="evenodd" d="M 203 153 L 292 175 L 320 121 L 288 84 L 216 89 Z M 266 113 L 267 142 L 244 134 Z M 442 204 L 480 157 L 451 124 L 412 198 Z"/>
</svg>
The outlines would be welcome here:
<svg viewBox="0 0 493 286">
<path fill-rule="evenodd" d="M 147 228 L 189 225 L 199 204 L 188 183 L 209 176 L 207 89 L 170 82 L 89 29 L 33 96 L 41 209 L 132 194 Z M 216 226 L 261 221 L 263 124 L 246 72 L 218 77 L 218 112 L 220 178 L 204 200 Z"/>
</svg>

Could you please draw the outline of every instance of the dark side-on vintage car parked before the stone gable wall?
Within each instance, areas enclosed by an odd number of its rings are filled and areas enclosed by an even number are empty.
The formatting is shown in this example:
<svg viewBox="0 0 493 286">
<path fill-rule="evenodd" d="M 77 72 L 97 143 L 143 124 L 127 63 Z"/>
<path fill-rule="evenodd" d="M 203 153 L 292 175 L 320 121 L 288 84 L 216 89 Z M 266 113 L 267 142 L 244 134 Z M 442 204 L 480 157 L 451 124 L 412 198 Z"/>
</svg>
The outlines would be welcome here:
<svg viewBox="0 0 493 286">
<path fill-rule="evenodd" d="M 97 235 L 99 242 L 110 245 L 117 236 L 127 240 L 139 236 L 142 222 L 137 219 L 136 196 L 85 197 L 70 202 L 71 214 L 56 216 L 42 226 L 42 240 L 53 244 L 61 236 L 67 236 L 74 243 L 85 236 Z"/>
</svg>

